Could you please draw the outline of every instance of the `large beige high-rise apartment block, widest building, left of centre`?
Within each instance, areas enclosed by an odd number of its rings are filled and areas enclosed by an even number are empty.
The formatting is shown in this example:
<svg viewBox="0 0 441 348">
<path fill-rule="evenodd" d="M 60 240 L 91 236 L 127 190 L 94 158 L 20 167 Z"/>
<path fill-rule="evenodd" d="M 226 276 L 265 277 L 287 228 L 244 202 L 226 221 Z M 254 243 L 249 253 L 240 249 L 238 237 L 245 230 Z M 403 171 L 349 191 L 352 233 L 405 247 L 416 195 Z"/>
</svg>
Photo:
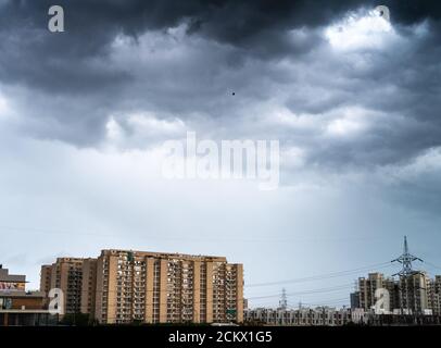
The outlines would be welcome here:
<svg viewBox="0 0 441 348">
<path fill-rule="evenodd" d="M 41 289 L 53 287 L 67 294 L 67 313 L 100 323 L 243 321 L 243 266 L 223 257 L 103 250 L 43 265 Z"/>
</svg>

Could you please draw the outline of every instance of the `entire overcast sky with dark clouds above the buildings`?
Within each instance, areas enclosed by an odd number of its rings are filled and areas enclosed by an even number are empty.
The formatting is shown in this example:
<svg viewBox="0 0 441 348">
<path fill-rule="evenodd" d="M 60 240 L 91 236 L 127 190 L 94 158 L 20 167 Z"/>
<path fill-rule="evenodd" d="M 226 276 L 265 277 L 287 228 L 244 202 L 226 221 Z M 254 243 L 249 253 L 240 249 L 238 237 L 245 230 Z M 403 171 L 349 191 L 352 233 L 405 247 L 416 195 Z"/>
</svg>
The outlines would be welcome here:
<svg viewBox="0 0 441 348">
<path fill-rule="evenodd" d="M 252 285 L 388 262 L 407 235 L 441 265 L 434 3 L 56 1 L 54 34 L 51 1 L 0 0 L 0 262 L 36 288 L 61 256 L 219 254 Z M 189 130 L 278 139 L 279 188 L 163 178 Z M 340 306 L 367 271 L 245 295 Z"/>
</svg>

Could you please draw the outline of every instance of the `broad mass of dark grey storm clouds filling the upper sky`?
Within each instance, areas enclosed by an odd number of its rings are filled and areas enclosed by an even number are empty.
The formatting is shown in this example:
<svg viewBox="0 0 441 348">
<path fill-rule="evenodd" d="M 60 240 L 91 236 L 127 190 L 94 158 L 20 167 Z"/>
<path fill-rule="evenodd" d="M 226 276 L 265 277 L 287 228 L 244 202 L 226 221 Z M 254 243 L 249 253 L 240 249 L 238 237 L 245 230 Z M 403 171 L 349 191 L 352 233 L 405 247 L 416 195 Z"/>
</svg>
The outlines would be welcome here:
<svg viewBox="0 0 441 348">
<path fill-rule="evenodd" d="M 360 105 L 395 115 L 350 139 L 284 128 L 261 134 L 302 144 L 313 163 L 385 164 L 440 145 L 440 5 L 433 2 L 382 2 L 408 42 L 403 51 L 367 53 L 374 63 L 364 70 L 345 53 L 327 51 L 319 29 L 376 1 L 59 1 L 63 34 L 47 30 L 51 4 L 9 1 L 0 14 L 0 82 L 25 88 L 15 98 L 30 135 L 89 146 L 102 139 L 110 114 L 124 117 L 130 110 L 189 122 L 202 114 L 247 134 L 253 127 L 240 117 L 255 112 L 249 105 L 292 90 L 278 103 L 293 114 Z M 414 37 L 412 25 L 424 20 L 430 34 Z M 186 37 L 175 42 L 167 30 L 182 23 Z M 142 42 L 146 33 L 163 46 Z M 112 45 L 121 34 L 133 42 L 115 58 Z M 158 53 L 167 50 L 176 54 Z M 292 72 L 277 65 L 284 59 L 297 64 Z M 237 97 L 226 98 L 231 90 Z"/>
</svg>

